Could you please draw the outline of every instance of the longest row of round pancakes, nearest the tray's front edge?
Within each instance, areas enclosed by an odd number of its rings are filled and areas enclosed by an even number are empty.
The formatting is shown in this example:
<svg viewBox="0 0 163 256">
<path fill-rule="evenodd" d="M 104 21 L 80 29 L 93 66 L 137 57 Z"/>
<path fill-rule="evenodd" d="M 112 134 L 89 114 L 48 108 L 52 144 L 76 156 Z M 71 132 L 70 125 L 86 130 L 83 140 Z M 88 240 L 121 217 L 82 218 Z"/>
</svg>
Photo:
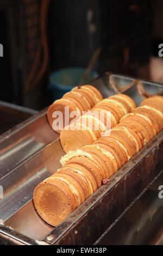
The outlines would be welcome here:
<svg viewBox="0 0 163 256">
<path fill-rule="evenodd" d="M 58 225 L 162 128 L 163 97 L 153 96 L 124 116 L 109 136 L 64 158 L 65 165 L 35 188 L 39 215 Z"/>
</svg>

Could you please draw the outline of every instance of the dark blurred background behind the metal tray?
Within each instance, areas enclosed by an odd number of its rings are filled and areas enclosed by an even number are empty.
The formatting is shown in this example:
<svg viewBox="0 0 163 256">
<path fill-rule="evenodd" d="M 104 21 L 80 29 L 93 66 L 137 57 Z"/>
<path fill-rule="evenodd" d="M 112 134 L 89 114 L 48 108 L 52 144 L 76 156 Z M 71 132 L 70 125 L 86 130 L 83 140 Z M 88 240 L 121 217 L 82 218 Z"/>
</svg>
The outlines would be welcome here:
<svg viewBox="0 0 163 256">
<path fill-rule="evenodd" d="M 105 71 L 163 83 L 162 10 L 161 0 L 0 0 L 0 100 L 40 110 Z"/>
</svg>

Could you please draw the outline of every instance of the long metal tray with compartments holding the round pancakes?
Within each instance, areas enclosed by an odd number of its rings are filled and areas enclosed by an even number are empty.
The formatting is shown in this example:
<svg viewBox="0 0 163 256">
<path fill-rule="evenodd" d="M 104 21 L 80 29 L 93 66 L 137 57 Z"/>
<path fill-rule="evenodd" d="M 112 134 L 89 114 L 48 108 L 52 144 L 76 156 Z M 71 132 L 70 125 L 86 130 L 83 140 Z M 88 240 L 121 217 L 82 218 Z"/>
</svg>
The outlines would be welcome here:
<svg viewBox="0 0 163 256">
<path fill-rule="evenodd" d="M 124 87 L 135 78 L 106 72 L 92 81 L 103 96 L 115 94 L 110 76 Z M 149 93 L 163 86 L 141 81 Z M 141 97 L 136 85 L 126 91 L 137 105 Z M 91 244 L 116 220 L 158 174 L 163 157 L 163 131 L 113 175 L 57 228 L 45 223 L 33 205 L 37 184 L 60 167 L 64 155 L 59 135 L 49 127 L 47 109 L 0 137 L 0 242 L 24 244 Z"/>
</svg>

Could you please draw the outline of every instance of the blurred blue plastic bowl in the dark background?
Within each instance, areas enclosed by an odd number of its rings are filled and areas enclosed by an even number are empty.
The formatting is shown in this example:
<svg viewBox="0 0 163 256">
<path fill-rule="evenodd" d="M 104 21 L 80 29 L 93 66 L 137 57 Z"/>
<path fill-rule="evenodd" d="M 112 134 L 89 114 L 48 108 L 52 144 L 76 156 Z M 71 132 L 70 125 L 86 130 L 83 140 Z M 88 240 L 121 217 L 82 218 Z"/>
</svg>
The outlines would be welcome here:
<svg viewBox="0 0 163 256">
<path fill-rule="evenodd" d="M 73 87 L 78 86 L 83 78 L 84 68 L 60 69 L 52 73 L 49 77 L 48 93 L 53 100 L 60 99 L 65 93 L 70 92 Z M 97 72 L 90 71 L 84 84 L 98 76 Z"/>
</svg>

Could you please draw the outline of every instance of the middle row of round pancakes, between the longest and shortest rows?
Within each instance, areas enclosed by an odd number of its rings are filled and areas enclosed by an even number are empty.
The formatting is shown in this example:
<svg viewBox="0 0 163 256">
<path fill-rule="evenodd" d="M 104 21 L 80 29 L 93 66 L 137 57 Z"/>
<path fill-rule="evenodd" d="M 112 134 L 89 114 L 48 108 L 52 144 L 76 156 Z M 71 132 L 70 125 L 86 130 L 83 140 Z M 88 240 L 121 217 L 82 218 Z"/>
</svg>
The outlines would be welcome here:
<svg viewBox="0 0 163 256">
<path fill-rule="evenodd" d="M 68 153 L 95 142 L 135 108 L 135 102 L 125 94 L 117 94 L 100 101 L 91 111 L 61 131 L 62 148 Z"/>
</svg>

